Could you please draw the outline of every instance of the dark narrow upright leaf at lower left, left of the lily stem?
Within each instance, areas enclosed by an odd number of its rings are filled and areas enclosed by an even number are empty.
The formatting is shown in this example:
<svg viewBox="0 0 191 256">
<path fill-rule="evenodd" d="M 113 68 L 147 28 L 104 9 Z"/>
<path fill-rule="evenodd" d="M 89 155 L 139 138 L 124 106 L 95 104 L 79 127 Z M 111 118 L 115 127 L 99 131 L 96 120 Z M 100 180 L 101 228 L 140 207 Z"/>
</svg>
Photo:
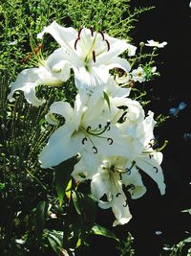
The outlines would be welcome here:
<svg viewBox="0 0 191 256">
<path fill-rule="evenodd" d="M 40 240 L 45 228 L 48 211 L 48 203 L 46 201 L 39 201 L 35 210 L 35 231 L 36 236 Z"/>
</svg>

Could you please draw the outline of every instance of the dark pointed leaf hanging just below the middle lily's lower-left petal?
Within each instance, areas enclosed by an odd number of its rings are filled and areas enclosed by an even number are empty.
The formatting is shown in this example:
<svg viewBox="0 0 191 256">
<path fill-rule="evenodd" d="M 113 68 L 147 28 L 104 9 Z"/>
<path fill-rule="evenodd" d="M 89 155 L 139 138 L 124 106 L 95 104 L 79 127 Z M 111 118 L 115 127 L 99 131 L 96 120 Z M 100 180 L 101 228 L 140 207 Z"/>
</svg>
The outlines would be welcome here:
<svg viewBox="0 0 191 256">
<path fill-rule="evenodd" d="M 62 205 L 65 191 L 69 181 L 71 180 L 71 174 L 73 170 L 74 158 L 70 158 L 69 160 L 64 161 L 63 163 L 55 167 L 54 183 L 60 206 Z"/>
</svg>

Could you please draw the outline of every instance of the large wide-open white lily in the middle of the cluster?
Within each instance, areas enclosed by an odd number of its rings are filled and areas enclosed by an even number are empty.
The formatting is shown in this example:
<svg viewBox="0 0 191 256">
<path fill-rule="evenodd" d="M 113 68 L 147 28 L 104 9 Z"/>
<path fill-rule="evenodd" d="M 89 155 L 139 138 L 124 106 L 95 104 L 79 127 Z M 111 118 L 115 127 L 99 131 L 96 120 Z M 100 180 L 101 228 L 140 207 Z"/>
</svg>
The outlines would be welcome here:
<svg viewBox="0 0 191 256">
<path fill-rule="evenodd" d="M 106 101 L 99 101 L 95 107 L 81 102 L 77 95 L 74 108 L 68 103 L 56 102 L 51 112 L 65 118 L 65 124 L 57 128 L 39 155 L 42 168 L 58 165 L 77 153 L 91 152 L 104 155 L 126 155 L 130 149 L 113 119 L 117 107 L 109 108 Z"/>
</svg>

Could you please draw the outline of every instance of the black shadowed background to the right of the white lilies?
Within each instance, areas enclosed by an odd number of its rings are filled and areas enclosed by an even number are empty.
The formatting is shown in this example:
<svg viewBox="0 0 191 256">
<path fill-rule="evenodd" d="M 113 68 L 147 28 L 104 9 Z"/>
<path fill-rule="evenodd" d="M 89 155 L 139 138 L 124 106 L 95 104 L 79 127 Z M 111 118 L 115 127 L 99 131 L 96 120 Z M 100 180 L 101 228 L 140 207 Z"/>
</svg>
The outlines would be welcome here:
<svg viewBox="0 0 191 256">
<path fill-rule="evenodd" d="M 178 107 L 180 102 L 186 104 L 177 117 L 171 116 L 155 129 L 161 144 L 168 140 L 167 147 L 162 151 L 162 169 L 167 186 L 165 196 L 159 195 L 154 182 L 143 177 L 148 192 L 142 198 L 130 200 L 132 221 L 114 229 L 124 238 L 130 231 L 135 238 L 137 256 L 159 256 L 164 243 L 177 244 L 188 236 L 185 231 L 191 231 L 190 215 L 181 212 L 191 208 L 191 138 L 183 138 L 184 133 L 191 133 L 191 9 L 189 1 L 184 0 L 135 0 L 132 4 L 136 7 L 156 7 L 139 15 L 132 35 L 136 45 L 148 39 L 168 42 L 159 49 L 157 66 L 160 77 L 152 81 L 153 101 L 149 108 L 156 115 L 168 115 L 171 107 Z M 113 217 L 108 211 L 103 211 L 99 219 L 110 227 Z M 162 233 L 156 235 L 155 231 Z M 115 245 L 112 246 L 107 239 L 94 238 L 91 251 L 95 252 L 94 255 L 117 256 Z M 105 248 L 105 253 L 100 253 L 101 246 Z"/>
</svg>

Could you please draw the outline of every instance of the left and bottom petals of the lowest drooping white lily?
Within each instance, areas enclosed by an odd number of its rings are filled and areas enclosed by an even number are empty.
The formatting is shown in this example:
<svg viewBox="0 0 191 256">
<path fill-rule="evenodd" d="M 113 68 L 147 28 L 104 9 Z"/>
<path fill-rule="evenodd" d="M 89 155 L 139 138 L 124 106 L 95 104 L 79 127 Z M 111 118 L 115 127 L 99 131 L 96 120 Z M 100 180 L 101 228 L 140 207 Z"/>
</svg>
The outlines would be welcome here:
<svg viewBox="0 0 191 256">
<path fill-rule="evenodd" d="M 115 170 L 116 164 L 123 164 L 123 159 L 108 157 L 103 160 L 91 181 L 91 191 L 98 200 L 99 207 L 102 209 L 111 207 L 113 210 L 116 217 L 113 226 L 125 224 L 132 218 L 127 198 L 122 190 L 120 174 Z"/>
</svg>

